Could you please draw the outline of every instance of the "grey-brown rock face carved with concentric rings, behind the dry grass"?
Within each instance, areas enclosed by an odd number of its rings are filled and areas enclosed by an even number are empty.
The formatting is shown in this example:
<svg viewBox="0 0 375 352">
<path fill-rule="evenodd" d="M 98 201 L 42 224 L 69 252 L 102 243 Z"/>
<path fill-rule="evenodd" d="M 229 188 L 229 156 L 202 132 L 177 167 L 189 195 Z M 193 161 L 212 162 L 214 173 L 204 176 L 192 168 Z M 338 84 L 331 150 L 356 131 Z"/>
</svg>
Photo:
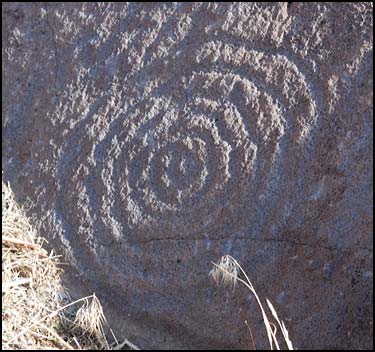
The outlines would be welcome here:
<svg viewBox="0 0 375 352">
<path fill-rule="evenodd" d="M 371 3 L 3 3 L 3 178 L 141 348 L 372 347 Z"/>
</svg>

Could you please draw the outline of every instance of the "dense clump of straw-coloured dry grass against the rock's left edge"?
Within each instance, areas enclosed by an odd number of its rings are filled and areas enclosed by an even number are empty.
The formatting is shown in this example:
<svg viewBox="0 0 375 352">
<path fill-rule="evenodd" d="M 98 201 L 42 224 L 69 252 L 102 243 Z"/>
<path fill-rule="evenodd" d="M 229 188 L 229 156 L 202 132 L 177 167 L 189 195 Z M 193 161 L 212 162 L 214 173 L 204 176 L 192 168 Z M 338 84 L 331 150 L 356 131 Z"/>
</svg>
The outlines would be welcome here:
<svg viewBox="0 0 375 352">
<path fill-rule="evenodd" d="M 43 241 L 2 183 L 2 349 L 138 349 L 113 333 L 109 345 L 99 300 L 93 294 L 72 302 L 59 258 Z"/>
</svg>

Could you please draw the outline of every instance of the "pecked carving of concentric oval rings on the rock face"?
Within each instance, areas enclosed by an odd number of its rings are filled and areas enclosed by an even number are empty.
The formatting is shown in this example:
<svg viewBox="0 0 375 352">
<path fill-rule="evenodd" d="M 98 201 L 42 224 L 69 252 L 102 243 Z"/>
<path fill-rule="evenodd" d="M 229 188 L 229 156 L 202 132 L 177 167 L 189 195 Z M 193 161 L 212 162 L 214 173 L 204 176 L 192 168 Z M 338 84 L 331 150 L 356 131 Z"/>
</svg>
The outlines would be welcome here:
<svg viewBox="0 0 375 352">
<path fill-rule="evenodd" d="M 234 238 L 256 238 L 267 222 L 258 220 L 261 209 L 289 197 L 280 177 L 285 155 L 303 153 L 317 119 L 300 69 L 284 55 L 219 40 L 178 51 L 165 60 L 165 83 L 101 130 L 99 116 L 111 108 L 94 102 L 92 117 L 61 153 L 58 220 L 63 229 L 80 224 L 69 246 L 90 253 L 75 255 L 83 272 L 89 257 L 104 276 L 125 278 L 127 258 L 103 264 L 112 246 L 132 256 L 145 256 L 144 244 L 154 241 L 202 239 L 210 246 L 229 238 L 225 224 Z M 180 69 L 189 55 L 191 66 Z M 90 130 L 100 137 L 84 132 Z M 65 192 L 68 185 L 75 191 Z"/>
</svg>

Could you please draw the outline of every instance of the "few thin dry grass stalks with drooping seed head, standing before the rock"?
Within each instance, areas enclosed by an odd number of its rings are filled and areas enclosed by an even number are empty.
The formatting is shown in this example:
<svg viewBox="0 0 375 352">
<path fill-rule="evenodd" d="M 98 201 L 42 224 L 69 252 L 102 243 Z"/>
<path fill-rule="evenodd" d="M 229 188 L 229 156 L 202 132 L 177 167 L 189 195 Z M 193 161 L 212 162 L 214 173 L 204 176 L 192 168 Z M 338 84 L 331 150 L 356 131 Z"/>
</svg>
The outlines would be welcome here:
<svg viewBox="0 0 375 352">
<path fill-rule="evenodd" d="M 212 264 L 214 264 L 214 267 L 210 271 L 210 276 L 212 276 L 212 278 L 215 280 L 217 284 L 223 284 L 224 286 L 231 285 L 235 287 L 237 283 L 240 282 L 243 285 L 245 285 L 251 291 L 251 293 L 255 296 L 258 306 L 262 312 L 263 322 L 266 328 L 270 349 L 273 350 L 275 347 L 277 350 L 280 350 L 280 343 L 279 343 L 278 337 L 276 336 L 277 334 L 276 325 L 270 322 L 270 319 L 268 318 L 266 311 L 263 308 L 262 302 L 260 301 L 254 289 L 254 286 L 251 283 L 249 277 L 247 276 L 245 270 L 242 269 L 241 265 L 236 261 L 236 259 L 234 259 L 233 257 L 229 255 L 225 255 L 221 257 L 217 263 L 212 263 Z M 243 275 L 244 279 L 239 277 L 240 274 Z M 277 324 L 280 327 L 284 342 L 286 343 L 288 350 L 293 350 L 293 344 L 289 338 L 288 330 L 286 329 L 284 322 L 280 321 L 272 303 L 268 299 L 266 299 L 266 302 L 267 302 L 268 308 L 270 309 L 272 313 L 272 316 L 275 318 Z M 256 349 L 253 335 L 251 333 L 251 329 L 246 321 L 245 321 L 245 324 L 249 329 L 253 347 L 254 349 Z"/>
</svg>

